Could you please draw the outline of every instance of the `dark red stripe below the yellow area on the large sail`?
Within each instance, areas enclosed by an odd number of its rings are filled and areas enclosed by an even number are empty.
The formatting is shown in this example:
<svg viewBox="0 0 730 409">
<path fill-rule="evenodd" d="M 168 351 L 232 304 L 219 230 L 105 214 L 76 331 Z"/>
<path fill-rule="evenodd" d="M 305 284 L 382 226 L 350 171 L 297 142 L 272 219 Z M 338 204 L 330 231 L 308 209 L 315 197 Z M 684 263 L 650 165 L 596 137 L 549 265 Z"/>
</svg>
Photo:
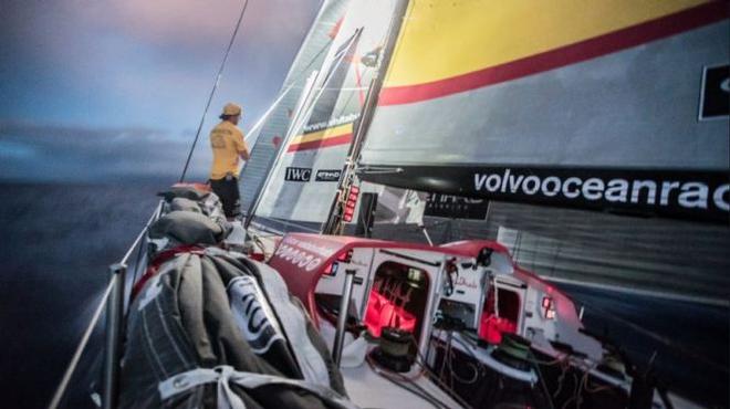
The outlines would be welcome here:
<svg viewBox="0 0 730 409">
<path fill-rule="evenodd" d="M 649 41 L 697 29 L 728 18 L 728 2 L 713 1 L 509 63 L 425 84 L 394 86 L 380 92 L 378 105 L 409 104 L 498 84 L 595 59 Z"/>
</svg>

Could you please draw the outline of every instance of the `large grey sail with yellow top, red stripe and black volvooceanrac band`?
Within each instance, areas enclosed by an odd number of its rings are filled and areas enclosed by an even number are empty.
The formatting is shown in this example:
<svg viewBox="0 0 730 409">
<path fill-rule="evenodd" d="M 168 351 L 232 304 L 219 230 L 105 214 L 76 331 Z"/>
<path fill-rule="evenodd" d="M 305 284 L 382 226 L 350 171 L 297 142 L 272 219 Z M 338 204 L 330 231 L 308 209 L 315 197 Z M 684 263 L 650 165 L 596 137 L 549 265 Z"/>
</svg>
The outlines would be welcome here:
<svg viewBox="0 0 730 409">
<path fill-rule="evenodd" d="M 701 0 L 411 1 L 361 177 L 727 224 L 728 14 Z"/>
</svg>

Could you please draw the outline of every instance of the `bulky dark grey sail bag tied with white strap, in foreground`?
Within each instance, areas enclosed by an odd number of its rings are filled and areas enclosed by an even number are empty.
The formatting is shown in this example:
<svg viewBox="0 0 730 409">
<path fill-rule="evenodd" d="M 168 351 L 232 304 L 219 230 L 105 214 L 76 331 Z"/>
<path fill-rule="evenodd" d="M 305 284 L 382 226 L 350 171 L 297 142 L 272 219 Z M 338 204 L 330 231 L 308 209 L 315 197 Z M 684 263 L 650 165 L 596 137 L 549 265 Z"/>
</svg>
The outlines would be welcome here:
<svg viewBox="0 0 730 409">
<path fill-rule="evenodd" d="M 351 407 L 342 377 L 279 273 L 181 248 L 129 306 L 119 407 Z"/>
</svg>

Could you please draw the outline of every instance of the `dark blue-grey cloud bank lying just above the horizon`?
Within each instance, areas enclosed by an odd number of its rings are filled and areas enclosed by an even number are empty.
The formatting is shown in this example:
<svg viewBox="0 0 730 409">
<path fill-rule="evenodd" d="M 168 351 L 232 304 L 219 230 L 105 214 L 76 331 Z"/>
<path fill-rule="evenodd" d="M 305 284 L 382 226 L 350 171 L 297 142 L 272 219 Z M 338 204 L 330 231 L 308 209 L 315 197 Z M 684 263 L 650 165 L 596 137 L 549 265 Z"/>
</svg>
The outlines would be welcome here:
<svg viewBox="0 0 730 409">
<path fill-rule="evenodd" d="M 152 128 L 92 128 L 0 122 L 0 178 L 100 181 L 179 176 L 191 135 Z M 189 175 L 206 178 L 201 135 Z"/>
</svg>

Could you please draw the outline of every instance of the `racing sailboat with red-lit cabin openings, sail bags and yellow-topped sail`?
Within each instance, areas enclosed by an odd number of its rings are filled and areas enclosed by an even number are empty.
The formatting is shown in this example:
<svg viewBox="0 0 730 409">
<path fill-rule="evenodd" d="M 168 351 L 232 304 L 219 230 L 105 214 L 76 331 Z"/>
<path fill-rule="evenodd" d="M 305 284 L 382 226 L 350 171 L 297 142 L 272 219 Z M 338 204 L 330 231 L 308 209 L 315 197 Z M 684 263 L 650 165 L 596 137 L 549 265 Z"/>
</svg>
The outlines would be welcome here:
<svg viewBox="0 0 730 409">
<path fill-rule="evenodd" d="M 380 198 L 419 219 L 414 190 L 727 229 L 727 2 L 351 0 L 317 19 L 340 12 L 243 226 L 175 186 L 126 314 L 115 275 L 104 406 L 693 407 L 494 240 L 343 233 L 371 234 Z"/>
</svg>

